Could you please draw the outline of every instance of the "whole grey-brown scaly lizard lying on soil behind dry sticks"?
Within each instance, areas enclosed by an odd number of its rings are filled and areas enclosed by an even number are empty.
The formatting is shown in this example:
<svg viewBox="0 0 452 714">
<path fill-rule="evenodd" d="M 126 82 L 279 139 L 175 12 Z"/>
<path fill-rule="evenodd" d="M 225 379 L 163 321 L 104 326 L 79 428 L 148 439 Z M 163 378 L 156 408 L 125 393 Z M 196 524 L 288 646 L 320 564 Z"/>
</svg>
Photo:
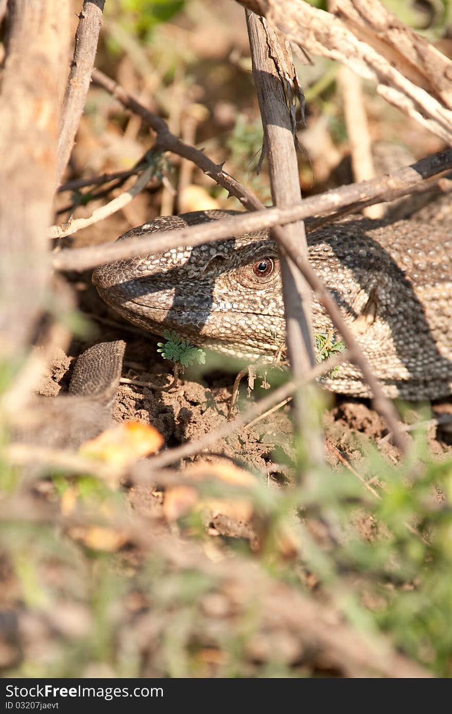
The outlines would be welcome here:
<svg viewBox="0 0 452 714">
<path fill-rule="evenodd" d="M 216 221 L 236 211 L 161 216 L 119 237 Z M 445 223 L 394 223 L 351 216 L 308 233 L 308 258 L 336 299 L 373 373 L 390 398 L 452 393 L 452 235 Z M 101 298 L 158 335 L 175 330 L 196 346 L 271 362 L 284 354 L 285 321 L 278 250 L 268 231 L 96 268 Z M 333 330 L 313 298 L 314 332 Z M 344 363 L 325 376 L 328 390 L 371 393 L 361 371 Z"/>
</svg>

